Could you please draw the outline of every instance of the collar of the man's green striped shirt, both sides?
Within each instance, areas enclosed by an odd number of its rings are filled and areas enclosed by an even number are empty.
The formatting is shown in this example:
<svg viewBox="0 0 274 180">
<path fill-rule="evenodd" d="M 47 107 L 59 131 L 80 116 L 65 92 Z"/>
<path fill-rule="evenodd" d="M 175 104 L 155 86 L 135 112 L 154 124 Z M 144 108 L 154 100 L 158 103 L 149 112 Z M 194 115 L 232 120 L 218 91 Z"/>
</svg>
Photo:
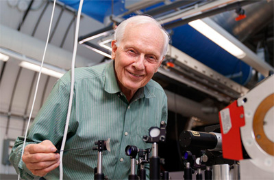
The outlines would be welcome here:
<svg viewBox="0 0 274 180">
<path fill-rule="evenodd" d="M 115 72 L 114 72 L 114 61 L 111 61 L 105 67 L 105 91 L 108 93 L 119 93 L 121 90 L 116 80 Z M 149 89 L 148 85 L 145 87 L 141 87 L 134 95 L 136 99 L 146 97 L 151 98 L 155 97 L 151 89 Z"/>
</svg>

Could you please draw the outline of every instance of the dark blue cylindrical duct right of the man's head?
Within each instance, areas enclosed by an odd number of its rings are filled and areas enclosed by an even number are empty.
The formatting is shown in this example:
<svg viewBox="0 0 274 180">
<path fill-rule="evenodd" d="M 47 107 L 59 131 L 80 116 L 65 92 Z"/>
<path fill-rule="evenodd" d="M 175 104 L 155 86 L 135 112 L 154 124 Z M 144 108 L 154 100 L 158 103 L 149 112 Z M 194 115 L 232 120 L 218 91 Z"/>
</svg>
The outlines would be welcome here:
<svg viewBox="0 0 274 180">
<path fill-rule="evenodd" d="M 171 40 L 172 45 L 182 52 L 241 85 L 246 85 L 251 79 L 252 67 L 229 54 L 189 25 L 175 27 Z"/>
</svg>

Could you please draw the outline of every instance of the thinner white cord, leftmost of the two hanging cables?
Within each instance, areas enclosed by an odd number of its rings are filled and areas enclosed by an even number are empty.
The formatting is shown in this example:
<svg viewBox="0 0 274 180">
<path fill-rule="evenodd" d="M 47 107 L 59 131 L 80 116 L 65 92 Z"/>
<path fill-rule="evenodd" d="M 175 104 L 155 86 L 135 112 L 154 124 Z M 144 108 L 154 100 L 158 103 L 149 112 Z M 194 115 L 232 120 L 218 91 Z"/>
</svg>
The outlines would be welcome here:
<svg viewBox="0 0 274 180">
<path fill-rule="evenodd" d="M 53 8 L 52 8 L 52 12 L 51 12 L 51 21 L 49 23 L 49 32 L 47 34 L 47 42 L 46 42 L 44 54 L 43 54 L 43 57 L 42 57 L 42 62 L 41 62 L 41 66 L 40 66 L 40 71 L 39 71 L 37 83 L 36 83 L 36 89 L 35 89 L 35 93 L 34 93 L 34 101 L 32 102 L 32 110 L 30 110 L 29 121 L 27 121 L 27 128 L 26 128 L 26 131 L 25 131 L 25 138 L 24 138 L 24 143 L 23 143 L 21 158 L 22 158 L 22 156 L 24 154 L 25 142 L 26 142 L 26 139 L 27 139 L 27 130 L 29 129 L 30 119 L 32 118 L 32 111 L 34 110 L 34 103 L 35 103 L 36 95 L 37 95 L 37 91 L 38 91 L 40 76 L 41 76 L 41 72 L 42 72 L 42 65 L 43 65 L 44 60 L 45 60 L 45 54 L 46 54 L 46 50 L 47 50 L 47 44 L 49 44 L 49 34 L 51 33 L 51 25 L 52 25 L 53 14 L 54 14 L 54 9 L 55 9 L 55 2 L 56 2 L 56 0 L 54 0 L 54 2 L 53 2 Z M 18 173 L 18 180 L 19 179 L 20 179 L 20 172 Z"/>
</svg>

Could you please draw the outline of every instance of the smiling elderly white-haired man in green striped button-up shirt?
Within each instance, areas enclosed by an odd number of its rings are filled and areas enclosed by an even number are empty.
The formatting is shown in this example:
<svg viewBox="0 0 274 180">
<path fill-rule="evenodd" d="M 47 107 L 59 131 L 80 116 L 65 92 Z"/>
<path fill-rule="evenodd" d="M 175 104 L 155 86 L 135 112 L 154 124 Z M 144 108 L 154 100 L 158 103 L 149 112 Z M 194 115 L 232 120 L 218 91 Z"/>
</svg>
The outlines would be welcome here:
<svg viewBox="0 0 274 180">
<path fill-rule="evenodd" d="M 134 16 L 117 27 L 114 38 L 113 61 L 75 70 L 64 149 L 82 149 L 64 153 L 64 179 L 93 179 L 97 151 L 92 147 L 108 138 L 111 151 L 103 152 L 103 173 L 110 179 L 127 179 L 130 159 L 125 147 L 151 147 L 142 136 L 167 119 L 166 95 L 151 78 L 164 59 L 169 35 L 153 18 Z M 27 134 L 22 158 L 23 137 L 15 142 L 10 161 L 23 179 L 59 178 L 60 155 L 54 152 L 62 142 L 70 80 L 67 73 L 55 83 Z"/>
</svg>

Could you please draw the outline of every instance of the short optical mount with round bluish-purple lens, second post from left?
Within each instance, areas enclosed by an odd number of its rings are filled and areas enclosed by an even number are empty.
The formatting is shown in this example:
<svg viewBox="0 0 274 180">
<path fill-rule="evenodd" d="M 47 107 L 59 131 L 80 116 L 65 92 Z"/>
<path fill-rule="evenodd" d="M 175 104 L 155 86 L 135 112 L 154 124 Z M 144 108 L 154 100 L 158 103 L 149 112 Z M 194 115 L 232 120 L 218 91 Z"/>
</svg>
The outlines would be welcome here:
<svg viewBox="0 0 274 180">
<path fill-rule="evenodd" d="M 129 179 L 138 179 L 138 176 L 135 174 L 136 166 L 136 155 L 138 154 L 139 149 L 136 146 L 127 146 L 125 147 L 125 155 L 130 157 L 130 174 Z"/>
</svg>

